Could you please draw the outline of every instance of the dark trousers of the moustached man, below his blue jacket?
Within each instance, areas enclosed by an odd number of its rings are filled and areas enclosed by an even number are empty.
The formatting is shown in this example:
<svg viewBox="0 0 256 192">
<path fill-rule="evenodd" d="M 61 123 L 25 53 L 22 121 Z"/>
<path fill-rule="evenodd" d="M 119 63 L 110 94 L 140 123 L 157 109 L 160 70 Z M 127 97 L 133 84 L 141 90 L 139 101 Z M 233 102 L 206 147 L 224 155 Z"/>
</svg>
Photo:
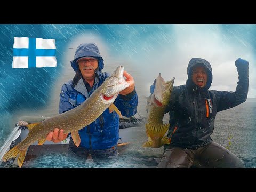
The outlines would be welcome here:
<svg viewBox="0 0 256 192">
<path fill-rule="evenodd" d="M 92 156 L 93 162 L 118 158 L 117 145 L 103 150 L 90 150 L 80 146 L 77 147 L 71 139 L 69 141 L 68 153 L 75 154 L 77 157 L 83 158 L 84 161 L 86 161 L 90 154 Z"/>
</svg>

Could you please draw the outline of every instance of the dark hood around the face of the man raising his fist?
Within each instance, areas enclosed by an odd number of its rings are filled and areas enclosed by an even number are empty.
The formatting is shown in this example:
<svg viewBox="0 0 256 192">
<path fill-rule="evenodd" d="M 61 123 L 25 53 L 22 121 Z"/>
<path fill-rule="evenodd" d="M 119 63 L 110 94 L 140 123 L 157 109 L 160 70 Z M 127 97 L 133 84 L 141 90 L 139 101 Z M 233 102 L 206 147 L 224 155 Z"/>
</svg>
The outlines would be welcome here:
<svg viewBox="0 0 256 192">
<path fill-rule="evenodd" d="M 205 85 L 206 89 L 209 89 L 209 87 L 211 86 L 212 83 L 212 67 L 211 64 L 206 61 L 205 59 L 201 59 L 201 58 L 192 58 L 189 63 L 188 63 L 188 69 L 187 69 L 187 73 L 188 73 L 188 82 L 193 83 L 192 79 L 191 79 L 191 75 L 192 75 L 192 69 L 193 67 L 195 67 L 196 65 L 203 65 L 206 68 L 207 71 L 207 83 Z M 194 84 L 194 83 L 193 83 Z"/>
</svg>

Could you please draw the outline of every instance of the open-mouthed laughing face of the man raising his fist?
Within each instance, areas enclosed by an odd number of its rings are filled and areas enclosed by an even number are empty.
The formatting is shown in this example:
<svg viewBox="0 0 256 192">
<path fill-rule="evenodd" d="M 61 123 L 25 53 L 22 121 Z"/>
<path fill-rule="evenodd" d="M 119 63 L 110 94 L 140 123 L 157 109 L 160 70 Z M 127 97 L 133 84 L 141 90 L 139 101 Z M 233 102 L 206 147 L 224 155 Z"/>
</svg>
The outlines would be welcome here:
<svg viewBox="0 0 256 192">
<path fill-rule="evenodd" d="M 204 87 L 207 83 L 207 72 L 203 66 L 195 66 L 192 69 L 192 81 L 199 87 Z"/>
</svg>

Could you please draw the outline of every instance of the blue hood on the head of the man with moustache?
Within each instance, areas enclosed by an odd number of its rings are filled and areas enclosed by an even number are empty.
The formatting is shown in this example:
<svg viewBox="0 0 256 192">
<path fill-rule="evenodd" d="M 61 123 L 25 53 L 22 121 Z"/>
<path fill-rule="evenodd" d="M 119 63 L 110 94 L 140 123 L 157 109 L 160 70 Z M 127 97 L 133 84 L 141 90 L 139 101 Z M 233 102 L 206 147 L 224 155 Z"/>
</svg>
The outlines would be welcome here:
<svg viewBox="0 0 256 192">
<path fill-rule="evenodd" d="M 100 51 L 97 45 L 95 43 L 82 43 L 76 49 L 74 60 L 70 61 L 71 66 L 75 72 L 77 71 L 77 65 L 78 65 L 76 61 L 79 58 L 85 57 L 85 56 L 91 56 L 91 57 L 97 58 L 99 63 L 99 70 L 102 70 L 104 68 L 104 62 L 103 62 L 104 60 L 100 55 Z"/>
</svg>

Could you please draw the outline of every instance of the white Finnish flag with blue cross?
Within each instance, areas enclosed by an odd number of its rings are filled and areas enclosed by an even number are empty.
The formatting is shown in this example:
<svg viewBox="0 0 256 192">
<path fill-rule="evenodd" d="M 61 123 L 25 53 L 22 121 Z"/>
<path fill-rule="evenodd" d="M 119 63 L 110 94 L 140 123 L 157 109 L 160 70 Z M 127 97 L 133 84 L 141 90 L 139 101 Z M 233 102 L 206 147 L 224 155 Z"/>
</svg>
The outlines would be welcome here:
<svg viewBox="0 0 256 192">
<path fill-rule="evenodd" d="M 14 37 L 12 68 L 56 66 L 55 39 Z"/>
</svg>

